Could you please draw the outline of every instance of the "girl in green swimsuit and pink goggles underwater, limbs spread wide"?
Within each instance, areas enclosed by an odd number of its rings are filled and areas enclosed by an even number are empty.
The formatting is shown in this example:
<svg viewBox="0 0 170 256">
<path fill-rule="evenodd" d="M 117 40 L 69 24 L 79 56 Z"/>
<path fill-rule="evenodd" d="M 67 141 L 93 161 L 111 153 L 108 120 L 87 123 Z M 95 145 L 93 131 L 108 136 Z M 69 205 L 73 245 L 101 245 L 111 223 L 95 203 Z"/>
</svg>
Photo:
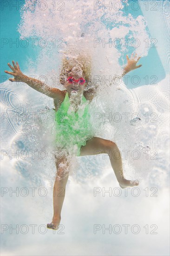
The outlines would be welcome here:
<svg viewBox="0 0 170 256">
<path fill-rule="evenodd" d="M 142 66 L 136 65 L 140 59 L 138 57 L 135 60 L 136 57 L 137 54 L 134 56 L 132 54 L 129 59 L 128 55 L 126 55 L 128 63 L 123 70 L 123 75 Z M 65 86 L 65 90 L 63 91 L 58 88 L 51 88 L 37 79 L 27 77 L 20 71 L 18 62 L 15 63 L 13 61 L 13 66 L 8 63 L 8 66 L 13 72 L 5 72 L 14 76 L 13 79 L 9 79 L 10 81 L 25 82 L 33 89 L 46 94 L 54 100 L 57 128 L 56 148 L 58 150 L 64 149 L 66 153 L 62 156 L 58 155 L 55 157 L 57 175 L 53 188 L 53 218 L 52 222 L 47 224 L 47 228 L 59 228 L 61 209 L 65 197 L 65 186 L 69 176 L 70 155 L 111 154 L 111 166 L 120 187 L 133 187 L 139 184 L 138 181 L 126 180 L 124 178 L 122 159 L 121 157 L 119 159 L 115 158 L 113 157 L 114 154 L 112 154 L 115 150 L 119 152 L 116 143 L 93 137 L 90 132 L 91 125 L 89 123 L 88 103 L 96 95 L 97 88 L 85 90 L 91 73 L 91 61 L 89 57 L 79 54 L 76 59 L 68 60 L 67 58 L 63 58 L 60 73 L 60 82 Z M 60 193 L 59 188 L 63 188 L 64 196 L 58 196 Z"/>
</svg>

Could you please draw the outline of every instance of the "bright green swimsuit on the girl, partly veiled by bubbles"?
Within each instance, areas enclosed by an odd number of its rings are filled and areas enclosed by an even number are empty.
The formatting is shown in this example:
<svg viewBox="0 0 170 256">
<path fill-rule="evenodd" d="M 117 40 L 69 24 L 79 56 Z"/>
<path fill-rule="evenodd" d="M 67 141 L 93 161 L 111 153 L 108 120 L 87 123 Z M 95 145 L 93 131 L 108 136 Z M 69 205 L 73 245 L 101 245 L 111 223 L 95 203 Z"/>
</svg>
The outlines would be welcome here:
<svg viewBox="0 0 170 256">
<path fill-rule="evenodd" d="M 64 101 L 55 113 L 57 147 L 65 148 L 73 155 L 80 156 L 81 146 L 85 146 L 87 139 L 92 138 L 92 126 L 89 119 L 88 102 L 84 95 L 75 113 L 67 92 Z"/>
</svg>

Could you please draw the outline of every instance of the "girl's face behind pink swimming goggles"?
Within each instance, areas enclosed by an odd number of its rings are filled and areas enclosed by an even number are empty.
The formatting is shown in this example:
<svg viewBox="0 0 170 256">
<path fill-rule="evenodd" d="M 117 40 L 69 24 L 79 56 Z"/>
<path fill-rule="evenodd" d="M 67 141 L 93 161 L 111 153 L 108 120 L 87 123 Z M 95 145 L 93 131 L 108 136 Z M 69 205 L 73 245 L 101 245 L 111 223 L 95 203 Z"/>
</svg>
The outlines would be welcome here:
<svg viewBox="0 0 170 256">
<path fill-rule="evenodd" d="M 82 76 L 79 77 L 77 74 L 70 72 L 68 74 L 67 78 L 69 76 L 72 76 L 73 78 L 75 78 L 75 80 L 77 80 L 78 78 L 81 78 L 81 77 L 83 77 L 85 79 L 85 74 L 82 74 Z M 79 84 L 78 82 L 73 82 L 73 83 L 69 83 L 68 81 L 65 82 L 65 88 L 69 95 L 71 94 L 72 91 L 76 91 L 78 93 L 77 95 L 82 94 L 86 85 L 87 85 L 87 82 L 85 82 L 84 84 Z"/>
</svg>

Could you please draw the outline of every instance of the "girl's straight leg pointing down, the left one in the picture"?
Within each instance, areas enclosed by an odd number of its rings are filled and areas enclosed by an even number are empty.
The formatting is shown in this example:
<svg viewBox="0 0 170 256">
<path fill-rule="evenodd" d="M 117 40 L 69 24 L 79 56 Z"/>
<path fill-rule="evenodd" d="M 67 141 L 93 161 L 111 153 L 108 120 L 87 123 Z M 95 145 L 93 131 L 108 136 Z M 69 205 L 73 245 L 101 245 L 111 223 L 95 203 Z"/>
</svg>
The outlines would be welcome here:
<svg viewBox="0 0 170 256">
<path fill-rule="evenodd" d="M 61 221 L 61 209 L 65 198 L 65 186 L 69 177 L 69 161 L 66 157 L 56 158 L 57 174 L 53 187 L 53 218 L 49 229 L 58 229 Z"/>
</svg>

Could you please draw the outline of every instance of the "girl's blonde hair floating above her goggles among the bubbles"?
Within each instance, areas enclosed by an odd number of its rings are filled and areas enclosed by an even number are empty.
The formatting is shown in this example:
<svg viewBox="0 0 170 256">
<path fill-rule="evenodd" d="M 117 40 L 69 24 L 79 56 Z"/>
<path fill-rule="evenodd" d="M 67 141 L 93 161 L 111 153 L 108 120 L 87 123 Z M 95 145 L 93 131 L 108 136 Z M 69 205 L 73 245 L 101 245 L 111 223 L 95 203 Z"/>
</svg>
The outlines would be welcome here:
<svg viewBox="0 0 170 256">
<path fill-rule="evenodd" d="M 62 66 L 60 69 L 59 81 L 62 85 L 65 84 L 65 81 L 70 72 L 78 74 L 78 76 L 85 75 L 85 80 L 90 81 L 92 71 L 92 58 L 88 54 L 78 54 L 77 57 L 64 57 L 62 59 Z"/>
</svg>

